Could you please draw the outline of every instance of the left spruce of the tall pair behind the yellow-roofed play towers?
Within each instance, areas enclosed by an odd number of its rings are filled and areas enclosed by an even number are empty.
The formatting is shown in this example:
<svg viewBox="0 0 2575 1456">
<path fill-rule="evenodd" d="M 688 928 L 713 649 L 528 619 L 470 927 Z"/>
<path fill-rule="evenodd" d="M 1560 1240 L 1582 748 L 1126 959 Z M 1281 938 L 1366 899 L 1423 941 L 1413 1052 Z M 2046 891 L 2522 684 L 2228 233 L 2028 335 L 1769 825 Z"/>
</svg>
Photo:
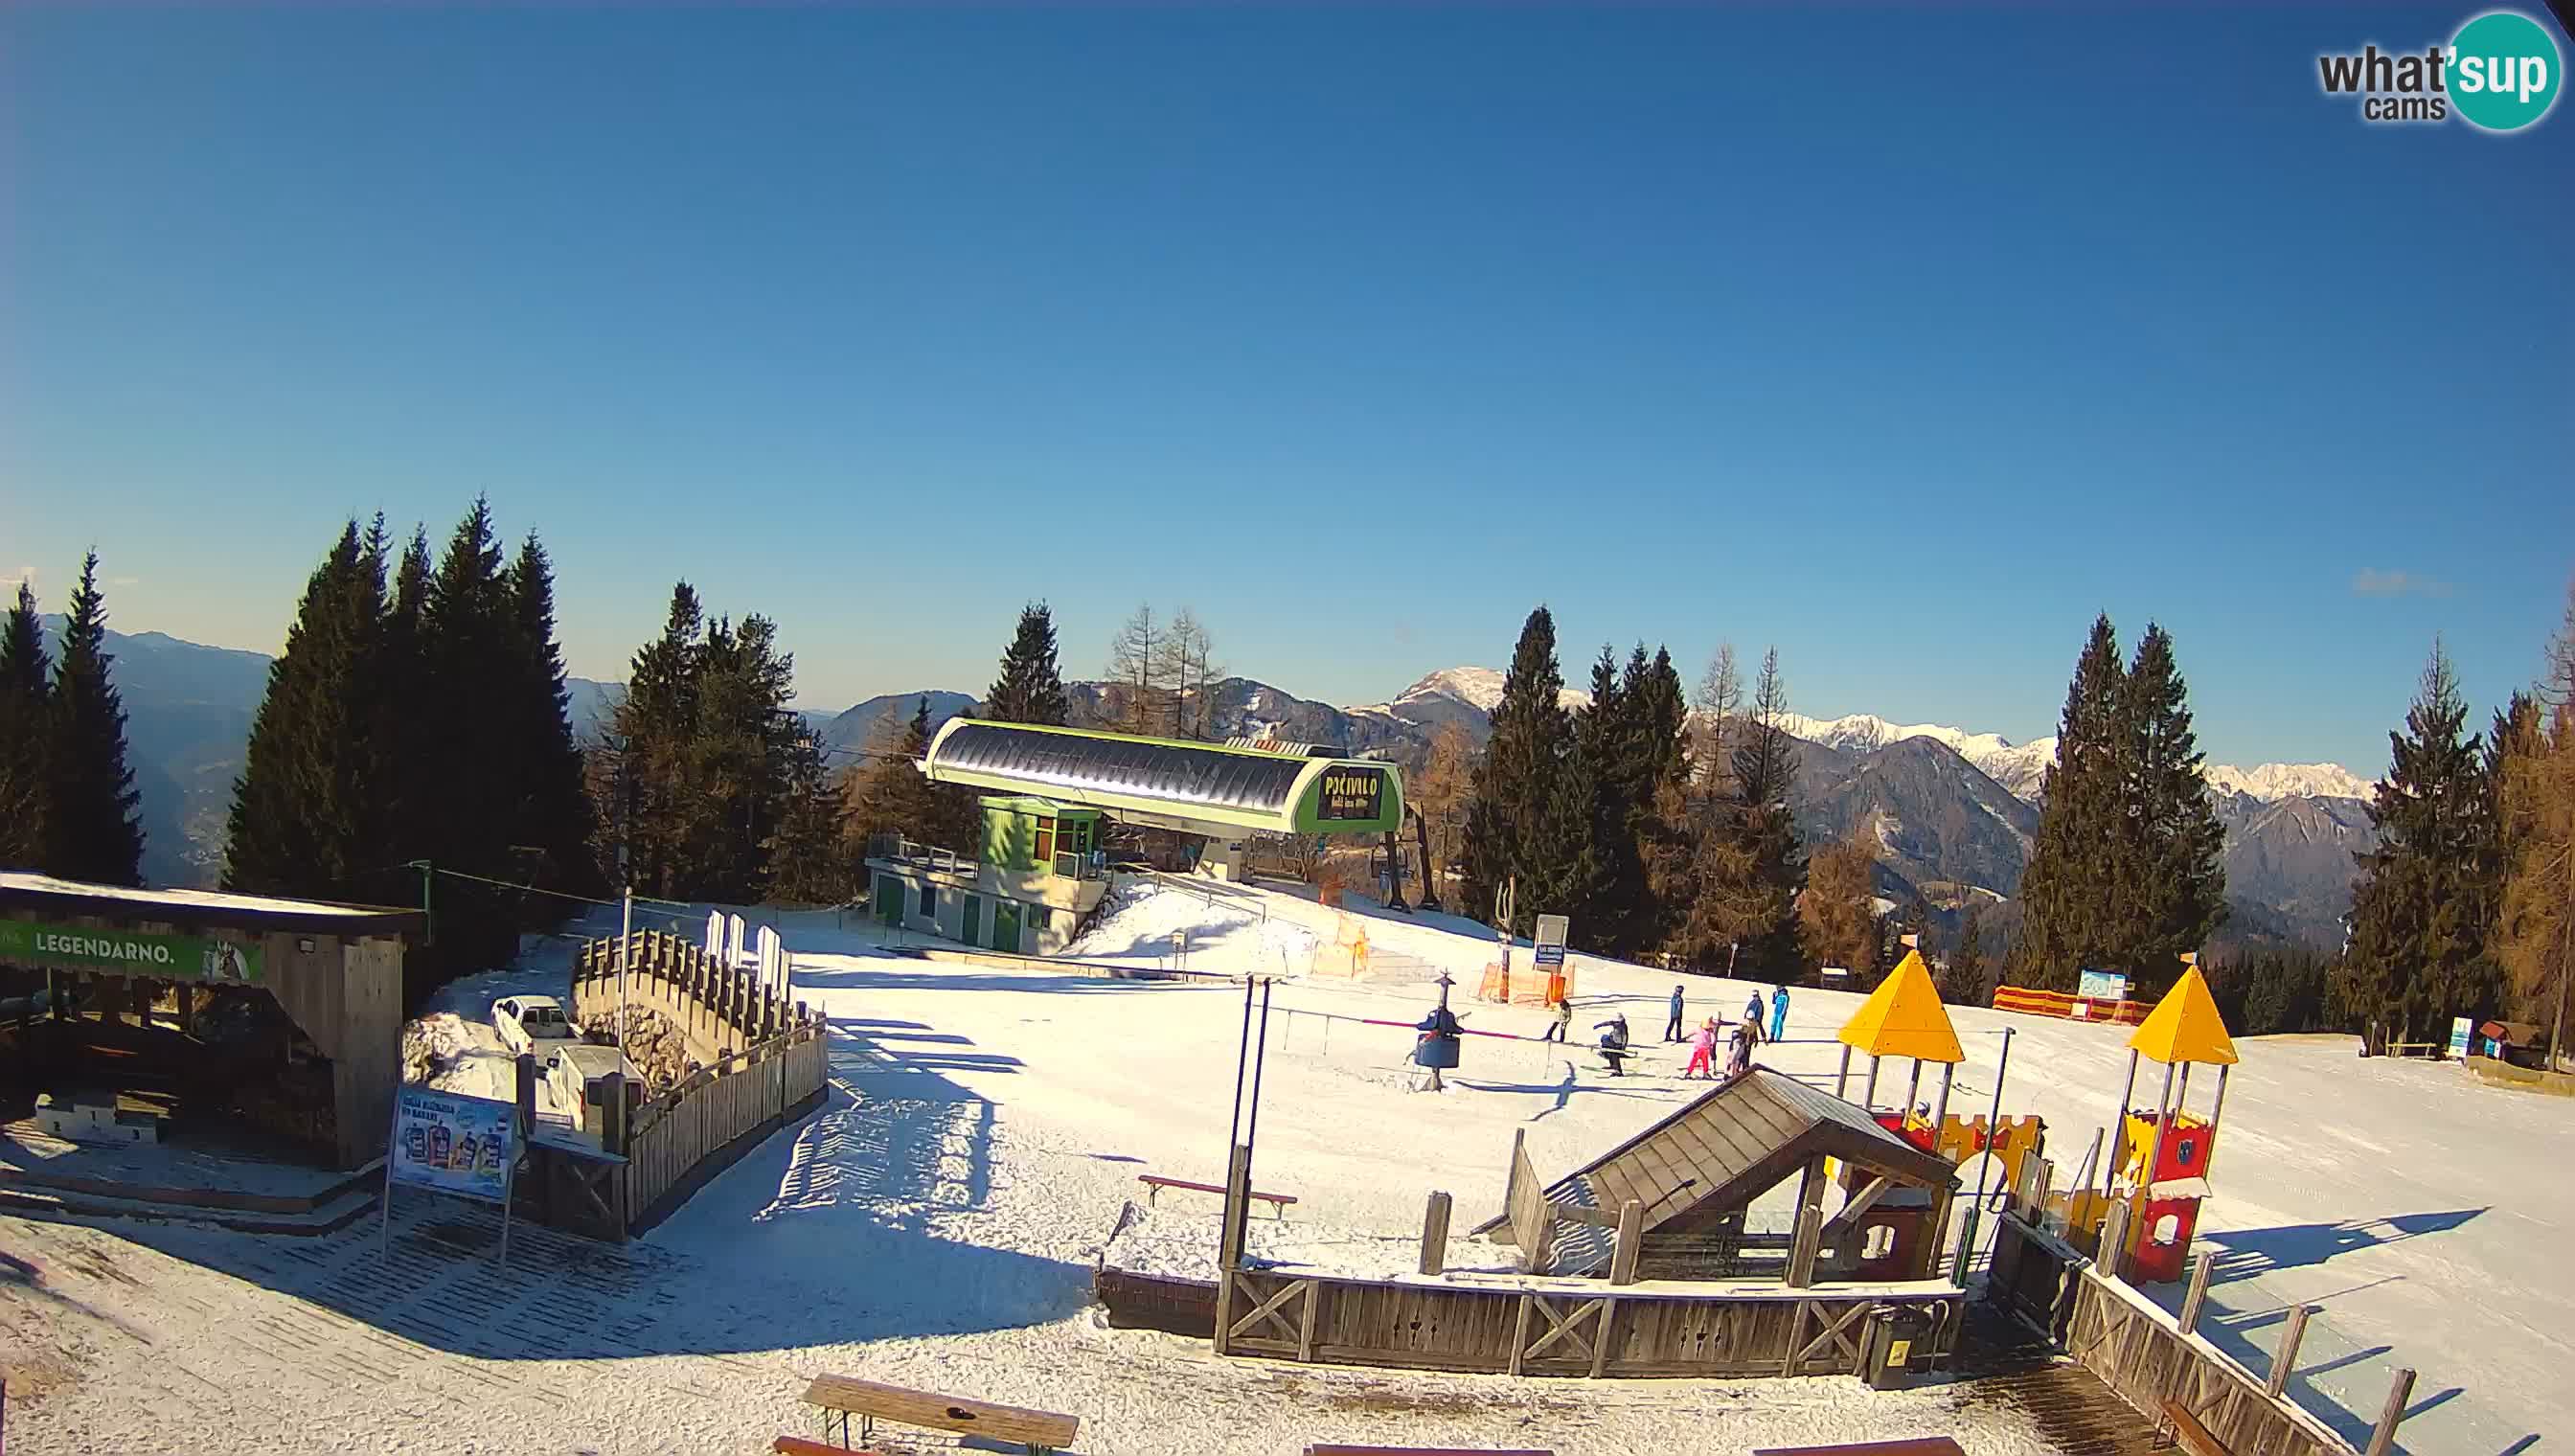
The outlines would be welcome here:
<svg viewBox="0 0 2575 1456">
<path fill-rule="evenodd" d="M 2021 935 L 2003 966 L 2011 984 L 2073 990 L 2081 966 L 2132 966 L 2119 863 L 2127 706 L 2119 634 L 2099 616 L 2065 688 L 2057 760 L 2039 786 L 2039 835 L 2021 871 Z"/>
</svg>

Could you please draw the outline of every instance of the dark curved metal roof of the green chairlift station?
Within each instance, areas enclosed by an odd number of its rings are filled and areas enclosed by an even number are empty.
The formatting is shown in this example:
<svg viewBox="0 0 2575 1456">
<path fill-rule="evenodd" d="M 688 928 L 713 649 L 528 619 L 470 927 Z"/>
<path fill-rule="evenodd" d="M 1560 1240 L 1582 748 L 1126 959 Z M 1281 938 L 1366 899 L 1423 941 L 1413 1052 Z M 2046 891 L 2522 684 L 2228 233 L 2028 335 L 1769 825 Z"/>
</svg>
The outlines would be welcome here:
<svg viewBox="0 0 2575 1456">
<path fill-rule="evenodd" d="M 1177 809 L 1288 814 L 1311 758 L 1236 747 L 1048 732 L 1025 724 L 960 719 L 930 750 L 932 776 L 989 773 L 1061 789 L 1071 799 L 1118 794 L 1159 799 Z"/>
</svg>

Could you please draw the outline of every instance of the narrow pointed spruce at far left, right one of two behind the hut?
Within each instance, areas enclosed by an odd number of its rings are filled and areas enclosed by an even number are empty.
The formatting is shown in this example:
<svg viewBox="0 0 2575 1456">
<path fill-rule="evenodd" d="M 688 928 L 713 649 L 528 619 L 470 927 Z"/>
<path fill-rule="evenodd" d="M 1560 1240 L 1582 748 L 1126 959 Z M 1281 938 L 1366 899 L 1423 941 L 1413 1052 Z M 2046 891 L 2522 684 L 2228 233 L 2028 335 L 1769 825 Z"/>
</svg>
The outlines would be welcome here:
<svg viewBox="0 0 2575 1456">
<path fill-rule="evenodd" d="M 126 765 L 126 706 L 108 657 L 98 551 L 80 562 L 52 693 L 52 804 L 44 871 L 93 884 L 142 884 L 144 830 Z"/>
</svg>

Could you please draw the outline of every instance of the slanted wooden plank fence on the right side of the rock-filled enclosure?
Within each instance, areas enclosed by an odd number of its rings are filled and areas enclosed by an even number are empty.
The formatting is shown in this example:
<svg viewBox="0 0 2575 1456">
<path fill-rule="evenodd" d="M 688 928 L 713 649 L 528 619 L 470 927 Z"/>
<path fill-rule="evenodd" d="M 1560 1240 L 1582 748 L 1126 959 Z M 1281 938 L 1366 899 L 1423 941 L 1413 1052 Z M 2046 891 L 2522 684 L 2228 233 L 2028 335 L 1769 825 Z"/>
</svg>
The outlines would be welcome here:
<svg viewBox="0 0 2575 1456">
<path fill-rule="evenodd" d="M 644 1232 L 708 1178 L 791 1118 L 824 1087 L 824 1023 L 801 1018 L 783 1033 L 700 1067 L 644 1103 L 626 1129 L 626 1221 Z"/>
</svg>

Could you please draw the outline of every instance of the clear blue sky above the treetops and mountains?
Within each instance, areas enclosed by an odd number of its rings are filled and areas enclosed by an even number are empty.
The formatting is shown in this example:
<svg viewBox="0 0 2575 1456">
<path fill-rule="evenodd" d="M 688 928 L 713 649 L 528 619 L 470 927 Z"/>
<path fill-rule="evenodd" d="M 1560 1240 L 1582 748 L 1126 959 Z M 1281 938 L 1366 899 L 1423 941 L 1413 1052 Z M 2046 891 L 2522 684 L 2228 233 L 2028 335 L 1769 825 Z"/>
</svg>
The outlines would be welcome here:
<svg viewBox="0 0 2575 1456">
<path fill-rule="evenodd" d="M 814 706 L 1035 595 L 1344 704 L 1548 600 L 2011 737 L 2106 608 L 2377 771 L 2575 570 L 2575 106 L 2315 88 L 2469 13 L 10 8 L 0 572 L 273 649 L 489 492 L 597 678 L 680 575 Z"/>
</svg>

